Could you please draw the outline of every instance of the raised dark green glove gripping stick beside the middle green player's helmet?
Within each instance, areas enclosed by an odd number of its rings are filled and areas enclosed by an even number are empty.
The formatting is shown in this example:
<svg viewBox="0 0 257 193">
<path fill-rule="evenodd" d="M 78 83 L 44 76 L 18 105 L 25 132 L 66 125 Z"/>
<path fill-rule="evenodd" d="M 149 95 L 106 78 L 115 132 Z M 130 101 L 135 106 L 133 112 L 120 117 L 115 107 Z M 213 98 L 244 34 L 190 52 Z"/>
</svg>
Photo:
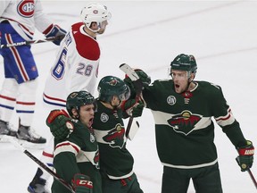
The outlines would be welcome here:
<svg viewBox="0 0 257 193">
<path fill-rule="evenodd" d="M 136 96 L 142 91 L 142 88 L 148 86 L 151 83 L 151 77 L 149 77 L 145 71 L 142 71 L 140 69 L 135 70 L 137 72 L 137 75 L 140 80 L 138 81 L 132 81 L 129 79 L 128 76 L 125 77 L 124 81 L 125 83 L 129 86 L 130 92 L 131 92 L 131 97 Z M 139 82 L 141 81 L 142 84 Z"/>
</svg>

